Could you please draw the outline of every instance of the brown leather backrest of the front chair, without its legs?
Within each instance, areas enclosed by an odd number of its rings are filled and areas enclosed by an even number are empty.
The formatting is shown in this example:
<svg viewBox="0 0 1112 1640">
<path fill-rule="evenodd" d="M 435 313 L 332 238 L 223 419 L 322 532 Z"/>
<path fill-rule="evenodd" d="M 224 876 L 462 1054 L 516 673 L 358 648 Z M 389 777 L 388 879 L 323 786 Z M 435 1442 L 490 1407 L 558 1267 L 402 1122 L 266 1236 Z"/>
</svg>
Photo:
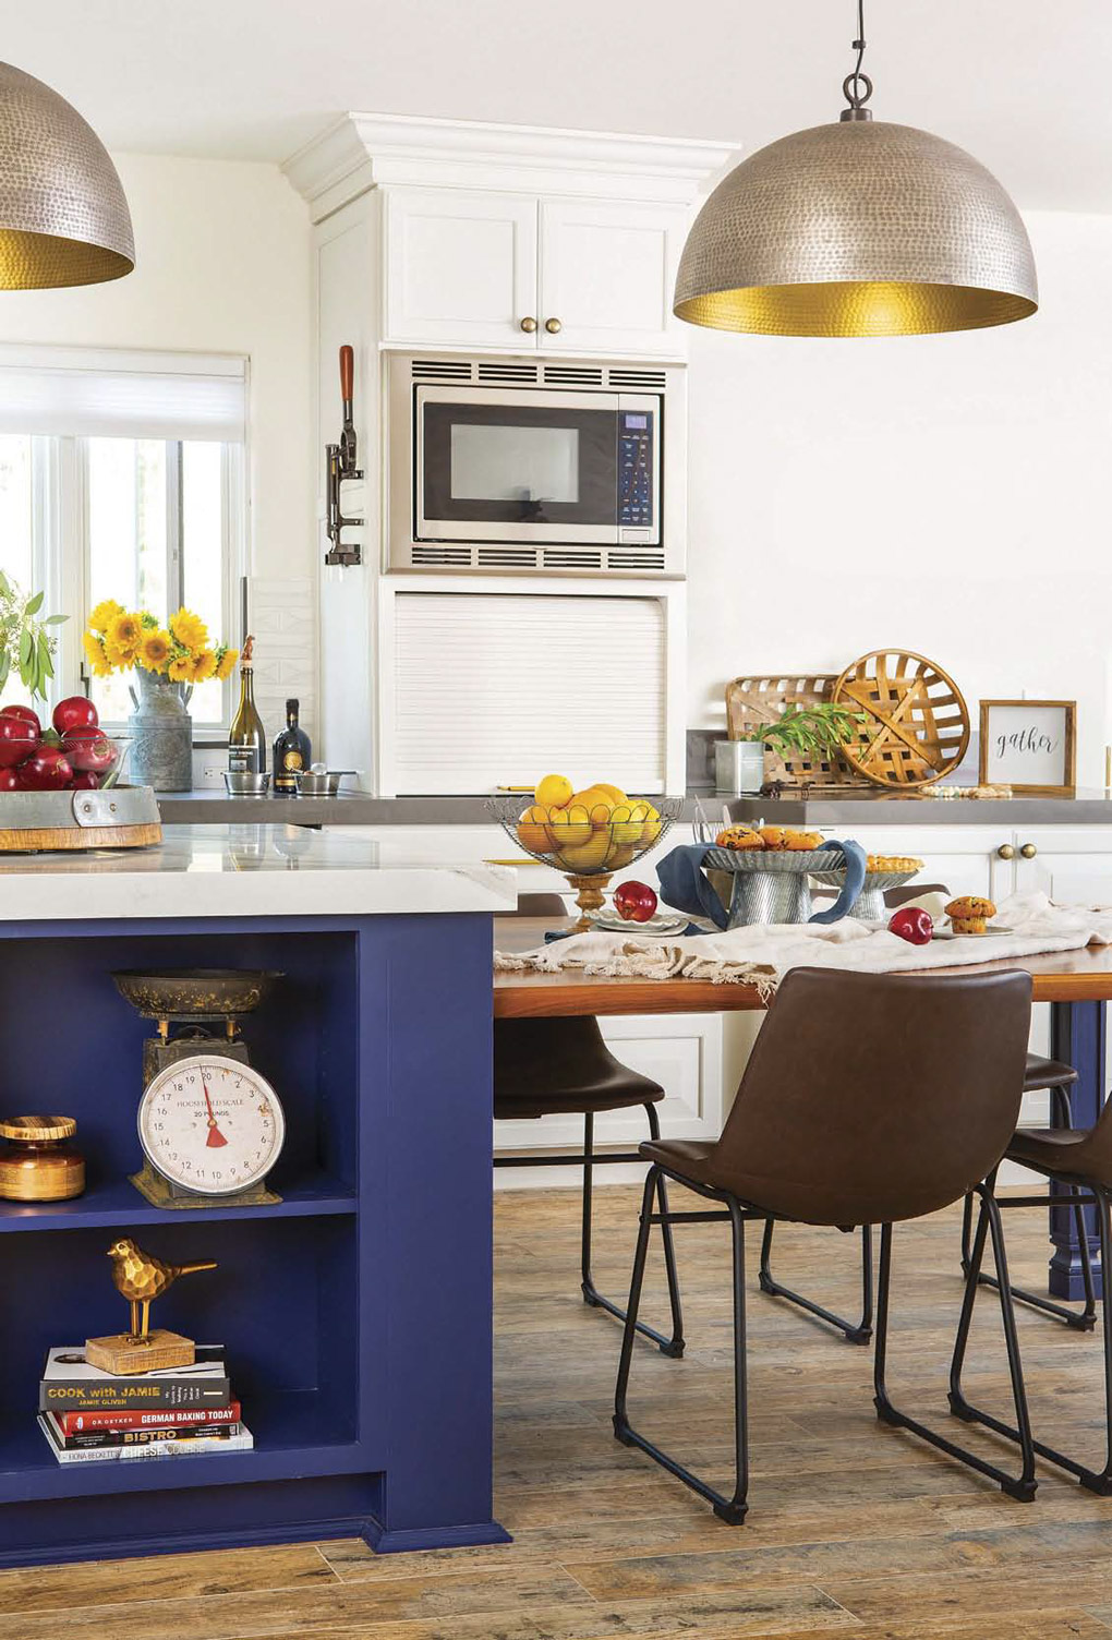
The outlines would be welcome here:
<svg viewBox="0 0 1112 1640">
<path fill-rule="evenodd" d="M 700 1176 L 805 1223 L 945 1207 L 1012 1138 L 1030 1010 L 1025 973 L 792 969 Z"/>
</svg>

